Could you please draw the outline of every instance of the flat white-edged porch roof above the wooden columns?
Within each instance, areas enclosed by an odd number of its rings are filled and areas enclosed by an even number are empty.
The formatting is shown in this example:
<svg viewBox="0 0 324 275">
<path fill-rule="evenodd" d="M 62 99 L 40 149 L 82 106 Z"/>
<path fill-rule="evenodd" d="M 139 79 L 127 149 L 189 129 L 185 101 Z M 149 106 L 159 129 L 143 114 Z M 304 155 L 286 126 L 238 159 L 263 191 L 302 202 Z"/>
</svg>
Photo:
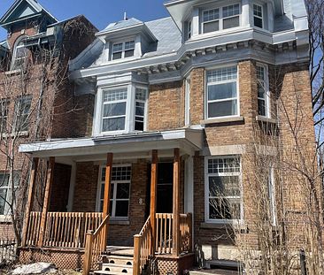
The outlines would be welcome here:
<svg viewBox="0 0 324 275">
<path fill-rule="evenodd" d="M 192 155 L 202 147 L 203 131 L 186 128 L 27 143 L 19 146 L 19 152 L 33 154 L 34 157 L 73 157 L 179 148 L 182 154 Z"/>
</svg>

